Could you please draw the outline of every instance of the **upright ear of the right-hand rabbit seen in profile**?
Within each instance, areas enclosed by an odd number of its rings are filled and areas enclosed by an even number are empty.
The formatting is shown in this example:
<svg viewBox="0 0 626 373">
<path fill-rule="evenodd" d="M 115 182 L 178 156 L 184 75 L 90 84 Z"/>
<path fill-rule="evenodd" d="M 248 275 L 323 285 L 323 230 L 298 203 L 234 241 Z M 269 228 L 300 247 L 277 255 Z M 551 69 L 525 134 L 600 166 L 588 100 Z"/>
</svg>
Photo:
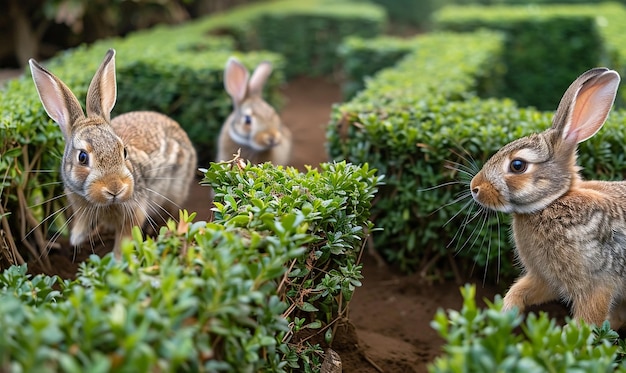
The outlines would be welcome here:
<svg viewBox="0 0 626 373">
<path fill-rule="evenodd" d="M 582 74 L 563 95 L 552 128 L 573 144 L 595 135 L 609 116 L 619 82 L 619 74 L 606 68 Z"/>
</svg>

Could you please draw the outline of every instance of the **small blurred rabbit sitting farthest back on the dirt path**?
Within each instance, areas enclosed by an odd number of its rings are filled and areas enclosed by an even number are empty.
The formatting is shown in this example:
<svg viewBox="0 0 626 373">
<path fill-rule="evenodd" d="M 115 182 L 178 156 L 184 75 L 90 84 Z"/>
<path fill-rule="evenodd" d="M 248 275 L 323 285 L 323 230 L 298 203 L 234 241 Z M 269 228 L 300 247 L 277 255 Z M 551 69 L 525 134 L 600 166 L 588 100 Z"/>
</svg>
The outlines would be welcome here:
<svg viewBox="0 0 626 373">
<path fill-rule="evenodd" d="M 260 63 L 252 77 L 236 58 L 224 70 L 224 88 L 233 100 L 233 112 L 219 135 L 217 161 L 239 157 L 258 164 L 287 165 L 292 136 L 280 116 L 262 97 L 263 86 L 272 72 L 269 62 Z"/>
</svg>

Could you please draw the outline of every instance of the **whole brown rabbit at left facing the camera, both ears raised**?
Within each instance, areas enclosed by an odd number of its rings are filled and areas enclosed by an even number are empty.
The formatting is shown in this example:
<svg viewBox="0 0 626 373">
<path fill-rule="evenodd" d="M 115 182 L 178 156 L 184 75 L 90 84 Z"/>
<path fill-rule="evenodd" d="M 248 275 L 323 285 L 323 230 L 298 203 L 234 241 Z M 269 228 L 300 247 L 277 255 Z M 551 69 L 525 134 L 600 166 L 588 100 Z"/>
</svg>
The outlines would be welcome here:
<svg viewBox="0 0 626 373">
<path fill-rule="evenodd" d="M 132 227 L 165 220 L 185 201 L 195 175 L 196 151 L 169 117 L 135 111 L 111 120 L 117 86 L 115 50 L 109 49 L 87 92 L 87 116 L 72 91 L 29 60 L 39 99 L 61 128 L 61 177 L 68 202 L 70 243 L 79 246 L 101 229 L 115 232 L 114 255 Z"/>
</svg>

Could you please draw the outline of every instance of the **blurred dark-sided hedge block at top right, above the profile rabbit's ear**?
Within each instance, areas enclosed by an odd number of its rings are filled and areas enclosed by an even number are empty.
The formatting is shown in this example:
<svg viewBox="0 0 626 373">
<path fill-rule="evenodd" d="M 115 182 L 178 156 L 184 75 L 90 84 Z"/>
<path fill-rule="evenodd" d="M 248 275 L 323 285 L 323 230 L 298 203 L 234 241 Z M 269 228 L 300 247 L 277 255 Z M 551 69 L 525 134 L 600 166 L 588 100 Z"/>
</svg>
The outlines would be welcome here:
<svg viewBox="0 0 626 373">
<path fill-rule="evenodd" d="M 499 96 L 553 110 L 573 76 L 605 61 L 597 14 L 613 9 L 624 18 L 621 7 L 473 6 L 443 8 L 434 21 L 443 30 L 506 33 L 507 73 Z"/>
</svg>

